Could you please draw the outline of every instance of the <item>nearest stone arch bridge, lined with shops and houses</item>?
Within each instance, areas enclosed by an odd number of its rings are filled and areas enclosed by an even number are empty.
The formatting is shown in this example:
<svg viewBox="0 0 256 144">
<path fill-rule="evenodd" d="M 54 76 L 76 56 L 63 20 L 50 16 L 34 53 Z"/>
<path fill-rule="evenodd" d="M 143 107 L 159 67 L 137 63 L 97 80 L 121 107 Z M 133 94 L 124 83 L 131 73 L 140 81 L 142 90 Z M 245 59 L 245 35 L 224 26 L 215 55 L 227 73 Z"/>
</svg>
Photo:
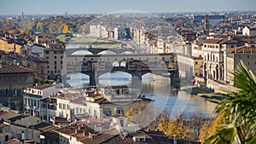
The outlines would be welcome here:
<svg viewBox="0 0 256 144">
<path fill-rule="evenodd" d="M 168 77 L 178 77 L 175 54 L 137 55 L 69 55 L 67 73 L 81 72 L 90 76 L 90 85 L 98 84 L 98 77 L 107 72 L 127 72 L 132 82 L 142 80 L 148 72 Z M 137 79 L 137 80 L 136 80 Z"/>
</svg>

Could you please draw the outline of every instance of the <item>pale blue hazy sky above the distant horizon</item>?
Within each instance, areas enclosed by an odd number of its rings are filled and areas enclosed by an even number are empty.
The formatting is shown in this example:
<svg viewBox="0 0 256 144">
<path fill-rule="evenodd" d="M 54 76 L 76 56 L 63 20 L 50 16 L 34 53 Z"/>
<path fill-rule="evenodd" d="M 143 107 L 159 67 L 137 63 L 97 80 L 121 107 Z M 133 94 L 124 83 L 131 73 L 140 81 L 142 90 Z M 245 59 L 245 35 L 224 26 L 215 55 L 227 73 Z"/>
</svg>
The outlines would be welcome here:
<svg viewBox="0 0 256 144">
<path fill-rule="evenodd" d="M 0 14 L 95 14 L 121 10 L 194 12 L 256 10 L 256 0 L 1 0 Z"/>
</svg>

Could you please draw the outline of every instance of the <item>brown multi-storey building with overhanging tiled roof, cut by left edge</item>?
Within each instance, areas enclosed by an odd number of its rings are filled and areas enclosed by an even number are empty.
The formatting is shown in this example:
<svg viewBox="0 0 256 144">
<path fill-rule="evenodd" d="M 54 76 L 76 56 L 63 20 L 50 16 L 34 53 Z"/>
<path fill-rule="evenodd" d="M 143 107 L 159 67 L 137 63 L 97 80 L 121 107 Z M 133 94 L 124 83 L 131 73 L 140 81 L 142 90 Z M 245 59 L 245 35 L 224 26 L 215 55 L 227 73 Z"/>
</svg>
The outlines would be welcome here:
<svg viewBox="0 0 256 144">
<path fill-rule="evenodd" d="M 0 100 L 3 106 L 19 111 L 23 109 L 21 92 L 32 87 L 35 72 L 24 66 L 0 64 Z"/>
</svg>

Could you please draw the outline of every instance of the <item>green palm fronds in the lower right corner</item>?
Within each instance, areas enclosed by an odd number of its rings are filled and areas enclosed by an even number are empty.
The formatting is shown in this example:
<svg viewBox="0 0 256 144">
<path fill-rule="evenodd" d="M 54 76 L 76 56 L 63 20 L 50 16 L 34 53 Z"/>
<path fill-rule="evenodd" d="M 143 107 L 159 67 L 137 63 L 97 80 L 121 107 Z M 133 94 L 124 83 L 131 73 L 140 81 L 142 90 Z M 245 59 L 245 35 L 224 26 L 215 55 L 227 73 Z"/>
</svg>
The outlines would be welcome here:
<svg viewBox="0 0 256 144">
<path fill-rule="evenodd" d="M 206 143 L 256 143 L 256 78 L 241 61 L 234 73 L 238 92 L 230 92 L 228 99 L 218 104 L 218 115 L 224 113 L 227 124 L 217 130 Z"/>
</svg>

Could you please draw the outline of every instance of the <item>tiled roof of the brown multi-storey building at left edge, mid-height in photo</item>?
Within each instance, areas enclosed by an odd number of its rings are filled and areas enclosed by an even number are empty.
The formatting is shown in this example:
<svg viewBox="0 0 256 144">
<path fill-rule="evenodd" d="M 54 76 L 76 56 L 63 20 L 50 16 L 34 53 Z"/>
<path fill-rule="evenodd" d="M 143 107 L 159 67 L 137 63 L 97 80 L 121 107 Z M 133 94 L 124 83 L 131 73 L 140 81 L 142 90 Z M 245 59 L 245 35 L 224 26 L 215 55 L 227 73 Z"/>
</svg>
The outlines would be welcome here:
<svg viewBox="0 0 256 144">
<path fill-rule="evenodd" d="M 18 66 L 18 65 L 2 65 L 0 68 L 0 74 L 1 73 L 32 73 L 37 72 L 31 68 L 27 68 L 24 66 Z"/>
</svg>

